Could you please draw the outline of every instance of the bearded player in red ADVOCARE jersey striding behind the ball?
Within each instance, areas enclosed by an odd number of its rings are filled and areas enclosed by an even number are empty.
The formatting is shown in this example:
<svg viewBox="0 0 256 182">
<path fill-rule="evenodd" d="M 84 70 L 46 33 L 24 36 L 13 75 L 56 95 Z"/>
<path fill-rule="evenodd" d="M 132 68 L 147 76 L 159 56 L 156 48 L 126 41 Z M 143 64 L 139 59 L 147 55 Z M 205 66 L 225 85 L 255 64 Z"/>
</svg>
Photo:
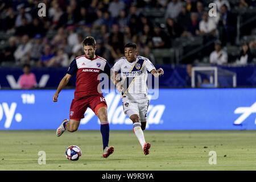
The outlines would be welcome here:
<svg viewBox="0 0 256 182">
<path fill-rule="evenodd" d="M 114 147 L 108 147 L 109 143 L 109 122 L 107 115 L 107 104 L 102 93 L 98 92 L 100 73 L 106 73 L 110 76 L 110 66 L 102 57 L 96 56 L 96 41 L 92 36 L 86 37 L 82 46 L 85 55 L 76 57 L 70 64 L 67 74 L 62 78 L 60 84 L 53 96 L 53 102 L 57 102 L 60 91 L 68 84 L 69 79 L 76 75 L 75 97 L 69 111 L 69 120 L 64 119 L 56 130 L 57 137 L 60 137 L 65 130 L 74 132 L 80 124 L 81 118 L 87 107 L 90 107 L 100 119 L 101 134 L 103 143 L 103 157 L 108 158 L 114 152 Z"/>
</svg>

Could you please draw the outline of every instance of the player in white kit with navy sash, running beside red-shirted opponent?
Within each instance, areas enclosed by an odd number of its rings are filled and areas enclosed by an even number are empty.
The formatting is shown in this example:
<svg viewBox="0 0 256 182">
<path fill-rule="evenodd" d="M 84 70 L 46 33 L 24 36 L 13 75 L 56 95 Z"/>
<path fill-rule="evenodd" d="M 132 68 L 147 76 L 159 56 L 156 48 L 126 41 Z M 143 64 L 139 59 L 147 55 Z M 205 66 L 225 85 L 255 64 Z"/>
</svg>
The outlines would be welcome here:
<svg viewBox="0 0 256 182">
<path fill-rule="evenodd" d="M 146 57 L 137 56 L 135 43 L 125 45 L 125 57 L 121 57 L 113 66 L 112 77 L 117 89 L 122 93 L 123 111 L 133 121 L 133 131 L 141 143 L 144 155 L 149 154 L 151 147 L 144 139 L 143 130 L 146 128 L 147 108 L 147 71 L 155 77 L 164 74 L 162 68 L 155 69 Z M 118 72 L 121 71 L 121 76 Z"/>
</svg>

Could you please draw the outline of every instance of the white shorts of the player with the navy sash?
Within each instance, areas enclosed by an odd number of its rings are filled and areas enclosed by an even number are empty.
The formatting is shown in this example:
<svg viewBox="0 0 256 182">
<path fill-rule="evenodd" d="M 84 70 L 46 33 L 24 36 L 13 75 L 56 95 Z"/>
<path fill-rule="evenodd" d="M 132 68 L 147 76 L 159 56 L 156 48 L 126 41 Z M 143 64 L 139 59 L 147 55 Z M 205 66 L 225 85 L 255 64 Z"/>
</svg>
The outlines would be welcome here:
<svg viewBox="0 0 256 182">
<path fill-rule="evenodd" d="M 147 109 L 149 105 L 149 100 L 146 102 L 138 103 L 129 101 L 127 98 L 123 98 L 123 112 L 129 117 L 133 114 L 138 114 L 141 122 L 147 121 Z"/>
</svg>

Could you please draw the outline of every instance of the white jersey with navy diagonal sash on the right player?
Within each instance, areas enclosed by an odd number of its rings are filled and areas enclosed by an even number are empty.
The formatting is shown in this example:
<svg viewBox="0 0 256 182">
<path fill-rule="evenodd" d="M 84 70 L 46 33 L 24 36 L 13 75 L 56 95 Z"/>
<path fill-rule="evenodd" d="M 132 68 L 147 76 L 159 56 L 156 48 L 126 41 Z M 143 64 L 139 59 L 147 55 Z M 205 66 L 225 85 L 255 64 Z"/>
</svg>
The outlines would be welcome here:
<svg viewBox="0 0 256 182">
<path fill-rule="evenodd" d="M 143 103 L 147 98 L 147 71 L 155 69 L 154 65 L 146 57 L 137 56 L 136 61 L 129 63 L 125 57 L 121 57 L 114 64 L 114 72 L 121 71 L 123 98 Z"/>
</svg>

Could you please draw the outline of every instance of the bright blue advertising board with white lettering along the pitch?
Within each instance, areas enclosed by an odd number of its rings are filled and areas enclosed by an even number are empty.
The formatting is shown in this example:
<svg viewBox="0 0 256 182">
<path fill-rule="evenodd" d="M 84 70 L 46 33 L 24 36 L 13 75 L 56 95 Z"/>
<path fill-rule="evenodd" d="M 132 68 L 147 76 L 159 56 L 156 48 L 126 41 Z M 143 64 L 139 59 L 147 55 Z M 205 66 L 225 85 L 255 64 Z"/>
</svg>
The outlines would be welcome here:
<svg viewBox="0 0 256 182">
<path fill-rule="evenodd" d="M 56 129 L 69 118 L 74 90 L 0 90 L 0 130 Z M 256 89 L 160 89 L 150 101 L 147 130 L 255 130 Z M 131 130 L 123 114 L 121 97 L 104 94 L 111 130 Z M 98 130 L 100 124 L 88 109 L 79 130 Z"/>
</svg>

